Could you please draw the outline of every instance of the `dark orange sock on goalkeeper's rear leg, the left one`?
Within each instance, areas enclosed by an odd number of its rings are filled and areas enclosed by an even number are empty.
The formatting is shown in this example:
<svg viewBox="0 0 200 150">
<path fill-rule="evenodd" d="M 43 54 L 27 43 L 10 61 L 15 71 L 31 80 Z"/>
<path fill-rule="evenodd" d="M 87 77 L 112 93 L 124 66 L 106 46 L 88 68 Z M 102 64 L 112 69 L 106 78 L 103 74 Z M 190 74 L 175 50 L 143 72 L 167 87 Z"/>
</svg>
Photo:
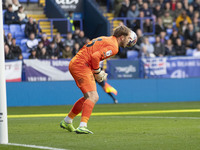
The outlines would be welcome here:
<svg viewBox="0 0 200 150">
<path fill-rule="evenodd" d="M 68 116 L 71 119 L 74 119 L 74 117 L 76 117 L 82 111 L 84 102 L 85 102 L 84 97 L 81 97 L 79 100 L 76 101 L 76 103 L 74 104 L 74 106 L 72 107 L 71 111 L 68 114 Z"/>
</svg>

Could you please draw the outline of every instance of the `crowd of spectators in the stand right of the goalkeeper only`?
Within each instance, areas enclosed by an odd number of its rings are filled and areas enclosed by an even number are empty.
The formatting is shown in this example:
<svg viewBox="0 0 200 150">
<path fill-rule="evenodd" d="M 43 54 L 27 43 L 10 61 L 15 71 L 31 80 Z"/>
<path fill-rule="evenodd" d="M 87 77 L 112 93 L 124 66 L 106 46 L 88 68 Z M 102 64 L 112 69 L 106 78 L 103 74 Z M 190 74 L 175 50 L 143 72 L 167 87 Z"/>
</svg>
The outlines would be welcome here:
<svg viewBox="0 0 200 150">
<path fill-rule="evenodd" d="M 108 4 L 106 0 L 96 1 Z M 120 58 L 126 58 L 129 50 L 136 50 L 139 57 L 197 56 L 200 0 L 109 0 L 109 12 L 115 17 L 149 17 L 142 21 L 142 31 L 141 20 L 127 20 L 126 25 L 139 34 L 139 39 L 135 47 L 120 50 Z M 155 33 L 151 34 L 153 24 Z"/>
</svg>

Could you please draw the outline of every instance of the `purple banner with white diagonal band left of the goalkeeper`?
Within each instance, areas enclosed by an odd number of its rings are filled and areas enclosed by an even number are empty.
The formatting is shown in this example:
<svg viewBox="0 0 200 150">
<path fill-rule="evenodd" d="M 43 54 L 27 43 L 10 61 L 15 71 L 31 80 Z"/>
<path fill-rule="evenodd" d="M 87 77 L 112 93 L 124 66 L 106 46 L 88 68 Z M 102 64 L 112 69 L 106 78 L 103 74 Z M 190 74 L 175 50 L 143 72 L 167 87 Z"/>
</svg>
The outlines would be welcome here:
<svg viewBox="0 0 200 150">
<path fill-rule="evenodd" d="M 24 60 L 26 81 L 73 80 L 68 66 L 70 60 Z"/>
</svg>

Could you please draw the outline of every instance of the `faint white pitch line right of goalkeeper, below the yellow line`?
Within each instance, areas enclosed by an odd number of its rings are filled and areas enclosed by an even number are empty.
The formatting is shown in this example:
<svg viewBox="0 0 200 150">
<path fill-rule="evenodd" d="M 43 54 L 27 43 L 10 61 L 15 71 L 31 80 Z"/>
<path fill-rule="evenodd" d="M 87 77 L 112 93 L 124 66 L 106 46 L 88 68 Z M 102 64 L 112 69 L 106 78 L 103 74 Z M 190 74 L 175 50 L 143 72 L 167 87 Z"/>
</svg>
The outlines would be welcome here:
<svg viewBox="0 0 200 150">
<path fill-rule="evenodd" d="M 98 116 L 99 117 L 99 116 Z M 200 117 L 156 117 L 156 116 L 102 116 L 108 118 L 149 118 L 149 119 L 200 119 Z"/>
</svg>

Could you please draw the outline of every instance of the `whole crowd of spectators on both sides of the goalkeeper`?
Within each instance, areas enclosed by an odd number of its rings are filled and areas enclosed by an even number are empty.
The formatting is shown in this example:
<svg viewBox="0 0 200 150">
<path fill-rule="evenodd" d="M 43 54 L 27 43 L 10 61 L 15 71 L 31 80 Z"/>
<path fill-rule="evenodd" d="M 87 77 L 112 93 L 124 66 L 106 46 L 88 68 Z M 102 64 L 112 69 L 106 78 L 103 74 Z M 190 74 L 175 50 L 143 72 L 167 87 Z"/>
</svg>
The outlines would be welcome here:
<svg viewBox="0 0 200 150">
<path fill-rule="evenodd" d="M 26 24 L 30 59 L 72 58 L 89 41 L 79 28 L 68 32 L 66 38 L 57 34 L 49 40 L 45 33 L 38 34 L 37 23 L 31 17 L 27 19 L 18 0 L 6 0 L 4 4 L 5 24 Z M 143 20 L 142 29 L 141 20 L 127 21 L 127 26 L 137 33 L 138 41 L 133 48 L 120 49 L 117 57 L 127 58 L 127 51 L 133 50 L 138 57 L 200 56 L 200 0 L 110 0 L 109 8 L 115 17 L 150 17 Z M 155 33 L 146 36 L 145 33 L 153 32 L 154 24 Z M 4 37 L 6 59 L 23 59 L 12 34 Z"/>
</svg>

